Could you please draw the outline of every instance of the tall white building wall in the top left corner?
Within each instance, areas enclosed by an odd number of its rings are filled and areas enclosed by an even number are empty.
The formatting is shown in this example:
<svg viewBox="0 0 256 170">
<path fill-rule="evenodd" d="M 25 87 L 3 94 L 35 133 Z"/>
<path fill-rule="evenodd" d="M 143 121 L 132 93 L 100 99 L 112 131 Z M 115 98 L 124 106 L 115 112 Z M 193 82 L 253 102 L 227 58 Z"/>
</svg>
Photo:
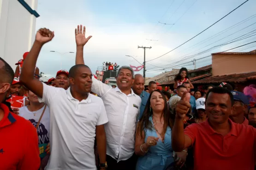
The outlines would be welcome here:
<svg viewBox="0 0 256 170">
<path fill-rule="evenodd" d="M 25 0 L 37 10 L 37 0 Z M 36 17 L 18 0 L 0 0 L 0 57 L 15 71 L 19 59 L 35 40 Z"/>
</svg>

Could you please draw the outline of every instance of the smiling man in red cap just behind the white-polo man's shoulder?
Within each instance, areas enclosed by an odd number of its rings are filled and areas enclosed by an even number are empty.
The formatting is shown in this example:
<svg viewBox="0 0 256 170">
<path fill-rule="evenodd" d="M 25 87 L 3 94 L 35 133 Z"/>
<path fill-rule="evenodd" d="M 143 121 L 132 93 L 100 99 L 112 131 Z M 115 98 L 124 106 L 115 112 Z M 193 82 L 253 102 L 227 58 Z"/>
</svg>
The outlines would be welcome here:
<svg viewBox="0 0 256 170">
<path fill-rule="evenodd" d="M 55 83 L 56 87 L 60 87 L 60 88 L 67 90 L 69 87 L 68 71 L 67 70 L 58 71 L 56 74 L 54 83 Z"/>
</svg>

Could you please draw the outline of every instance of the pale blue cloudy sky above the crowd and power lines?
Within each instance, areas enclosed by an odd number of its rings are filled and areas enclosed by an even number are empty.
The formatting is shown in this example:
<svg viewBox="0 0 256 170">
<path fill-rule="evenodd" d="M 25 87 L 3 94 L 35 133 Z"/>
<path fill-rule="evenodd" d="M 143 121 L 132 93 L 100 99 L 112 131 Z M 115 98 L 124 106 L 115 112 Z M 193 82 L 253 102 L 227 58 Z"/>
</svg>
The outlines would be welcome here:
<svg viewBox="0 0 256 170">
<path fill-rule="evenodd" d="M 43 46 L 37 66 L 48 78 L 55 77 L 61 65 L 62 69 L 69 70 L 75 64 L 75 53 L 65 52 L 76 52 L 75 28 L 77 24 L 82 24 L 86 26 L 86 37 L 92 35 L 84 46 L 84 61 L 93 74 L 102 66 L 102 62 L 140 66 L 144 51 L 137 48 L 138 45 L 152 47 L 146 50 L 146 77 L 154 77 L 182 66 L 194 69 L 193 59 L 256 41 L 256 0 L 249 0 L 193 40 L 173 50 L 244 1 L 38 0 L 36 11 L 40 17 L 36 19 L 36 31 L 49 28 L 54 31 L 55 37 Z M 220 45 L 239 36 L 243 39 Z M 216 45 L 220 46 L 216 48 Z M 256 49 L 255 45 L 231 51 L 252 51 Z M 168 51 L 171 52 L 160 57 Z M 125 55 L 134 57 L 138 62 Z M 156 57 L 160 58 L 152 60 Z M 211 64 L 211 57 L 196 60 L 196 68 L 208 64 Z M 143 74 L 143 71 L 137 73 Z"/>
</svg>

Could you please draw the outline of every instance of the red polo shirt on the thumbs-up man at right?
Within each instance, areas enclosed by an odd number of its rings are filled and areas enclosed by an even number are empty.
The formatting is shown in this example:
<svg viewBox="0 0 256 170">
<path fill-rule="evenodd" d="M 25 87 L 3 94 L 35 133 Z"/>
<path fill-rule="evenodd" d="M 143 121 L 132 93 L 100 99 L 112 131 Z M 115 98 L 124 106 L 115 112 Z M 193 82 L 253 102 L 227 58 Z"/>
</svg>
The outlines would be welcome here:
<svg viewBox="0 0 256 170">
<path fill-rule="evenodd" d="M 208 119 L 185 128 L 194 149 L 194 170 L 254 170 L 256 129 L 228 121 L 226 136 L 215 132 Z"/>
</svg>

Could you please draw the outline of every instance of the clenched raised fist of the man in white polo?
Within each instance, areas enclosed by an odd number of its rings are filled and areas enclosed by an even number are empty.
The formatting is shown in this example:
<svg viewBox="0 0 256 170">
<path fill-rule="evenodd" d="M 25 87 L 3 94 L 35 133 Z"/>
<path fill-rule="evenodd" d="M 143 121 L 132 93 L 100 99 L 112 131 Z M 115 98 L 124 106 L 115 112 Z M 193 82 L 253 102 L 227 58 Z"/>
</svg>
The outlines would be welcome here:
<svg viewBox="0 0 256 170">
<path fill-rule="evenodd" d="M 54 31 L 47 28 L 40 28 L 36 33 L 36 41 L 45 44 L 54 38 Z"/>
</svg>

